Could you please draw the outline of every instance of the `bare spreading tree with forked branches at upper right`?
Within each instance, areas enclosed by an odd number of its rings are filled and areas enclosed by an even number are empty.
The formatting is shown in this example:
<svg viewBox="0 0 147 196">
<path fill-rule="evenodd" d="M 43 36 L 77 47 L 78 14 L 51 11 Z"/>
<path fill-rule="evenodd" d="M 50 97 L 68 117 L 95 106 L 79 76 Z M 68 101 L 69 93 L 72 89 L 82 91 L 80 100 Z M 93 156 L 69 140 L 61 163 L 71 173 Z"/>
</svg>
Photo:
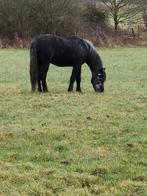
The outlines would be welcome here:
<svg viewBox="0 0 147 196">
<path fill-rule="evenodd" d="M 102 2 L 113 18 L 115 34 L 117 34 L 119 24 L 130 18 L 136 19 L 140 9 L 139 4 L 132 0 L 102 0 Z"/>
</svg>

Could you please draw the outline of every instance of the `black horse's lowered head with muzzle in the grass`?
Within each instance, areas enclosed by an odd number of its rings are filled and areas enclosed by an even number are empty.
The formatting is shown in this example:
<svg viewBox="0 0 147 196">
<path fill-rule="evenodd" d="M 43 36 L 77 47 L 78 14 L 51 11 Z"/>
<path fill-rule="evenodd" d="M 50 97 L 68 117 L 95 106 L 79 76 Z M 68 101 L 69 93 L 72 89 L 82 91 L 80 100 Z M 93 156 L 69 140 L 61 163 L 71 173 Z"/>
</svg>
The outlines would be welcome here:
<svg viewBox="0 0 147 196">
<path fill-rule="evenodd" d="M 105 68 L 101 68 L 97 75 L 92 76 L 91 83 L 96 92 L 104 92 L 104 82 L 106 80 Z"/>
</svg>

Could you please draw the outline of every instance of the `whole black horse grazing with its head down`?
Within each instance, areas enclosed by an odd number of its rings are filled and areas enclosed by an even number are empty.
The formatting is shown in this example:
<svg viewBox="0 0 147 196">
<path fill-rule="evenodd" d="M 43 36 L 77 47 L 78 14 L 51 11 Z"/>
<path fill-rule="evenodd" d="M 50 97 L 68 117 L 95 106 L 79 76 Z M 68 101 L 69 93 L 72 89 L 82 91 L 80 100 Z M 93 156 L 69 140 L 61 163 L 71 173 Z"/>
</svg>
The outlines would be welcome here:
<svg viewBox="0 0 147 196">
<path fill-rule="evenodd" d="M 49 64 L 64 67 L 72 66 L 72 74 L 68 91 L 73 90 L 76 80 L 77 91 L 81 91 L 81 66 L 86 63 L 91 72 L 91 83 L 96 92 L 104 91 L 104 81 L 106 80 L 105 68 L 92 43 L 79 37 L 57 37 L 42 35 L 34 39 L 30 47 L 30 80 L 32 91 L 47 92 L 46 76 Z"/>
</svg>

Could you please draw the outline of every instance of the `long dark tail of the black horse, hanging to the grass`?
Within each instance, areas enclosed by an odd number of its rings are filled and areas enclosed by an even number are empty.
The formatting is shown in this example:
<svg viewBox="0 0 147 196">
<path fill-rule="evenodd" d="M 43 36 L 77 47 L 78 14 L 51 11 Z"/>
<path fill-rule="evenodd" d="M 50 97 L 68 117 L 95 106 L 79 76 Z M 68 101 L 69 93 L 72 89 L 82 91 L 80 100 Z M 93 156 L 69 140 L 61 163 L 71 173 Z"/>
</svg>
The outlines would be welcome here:
<svg viewBox="0 0 147 196">
<path fill-rule="evenodd" d="M 30 47 L 30 82 L 32 92 L 36 90 L 38 80 L 37 41 L 34 40 Z"/>
</svg>

